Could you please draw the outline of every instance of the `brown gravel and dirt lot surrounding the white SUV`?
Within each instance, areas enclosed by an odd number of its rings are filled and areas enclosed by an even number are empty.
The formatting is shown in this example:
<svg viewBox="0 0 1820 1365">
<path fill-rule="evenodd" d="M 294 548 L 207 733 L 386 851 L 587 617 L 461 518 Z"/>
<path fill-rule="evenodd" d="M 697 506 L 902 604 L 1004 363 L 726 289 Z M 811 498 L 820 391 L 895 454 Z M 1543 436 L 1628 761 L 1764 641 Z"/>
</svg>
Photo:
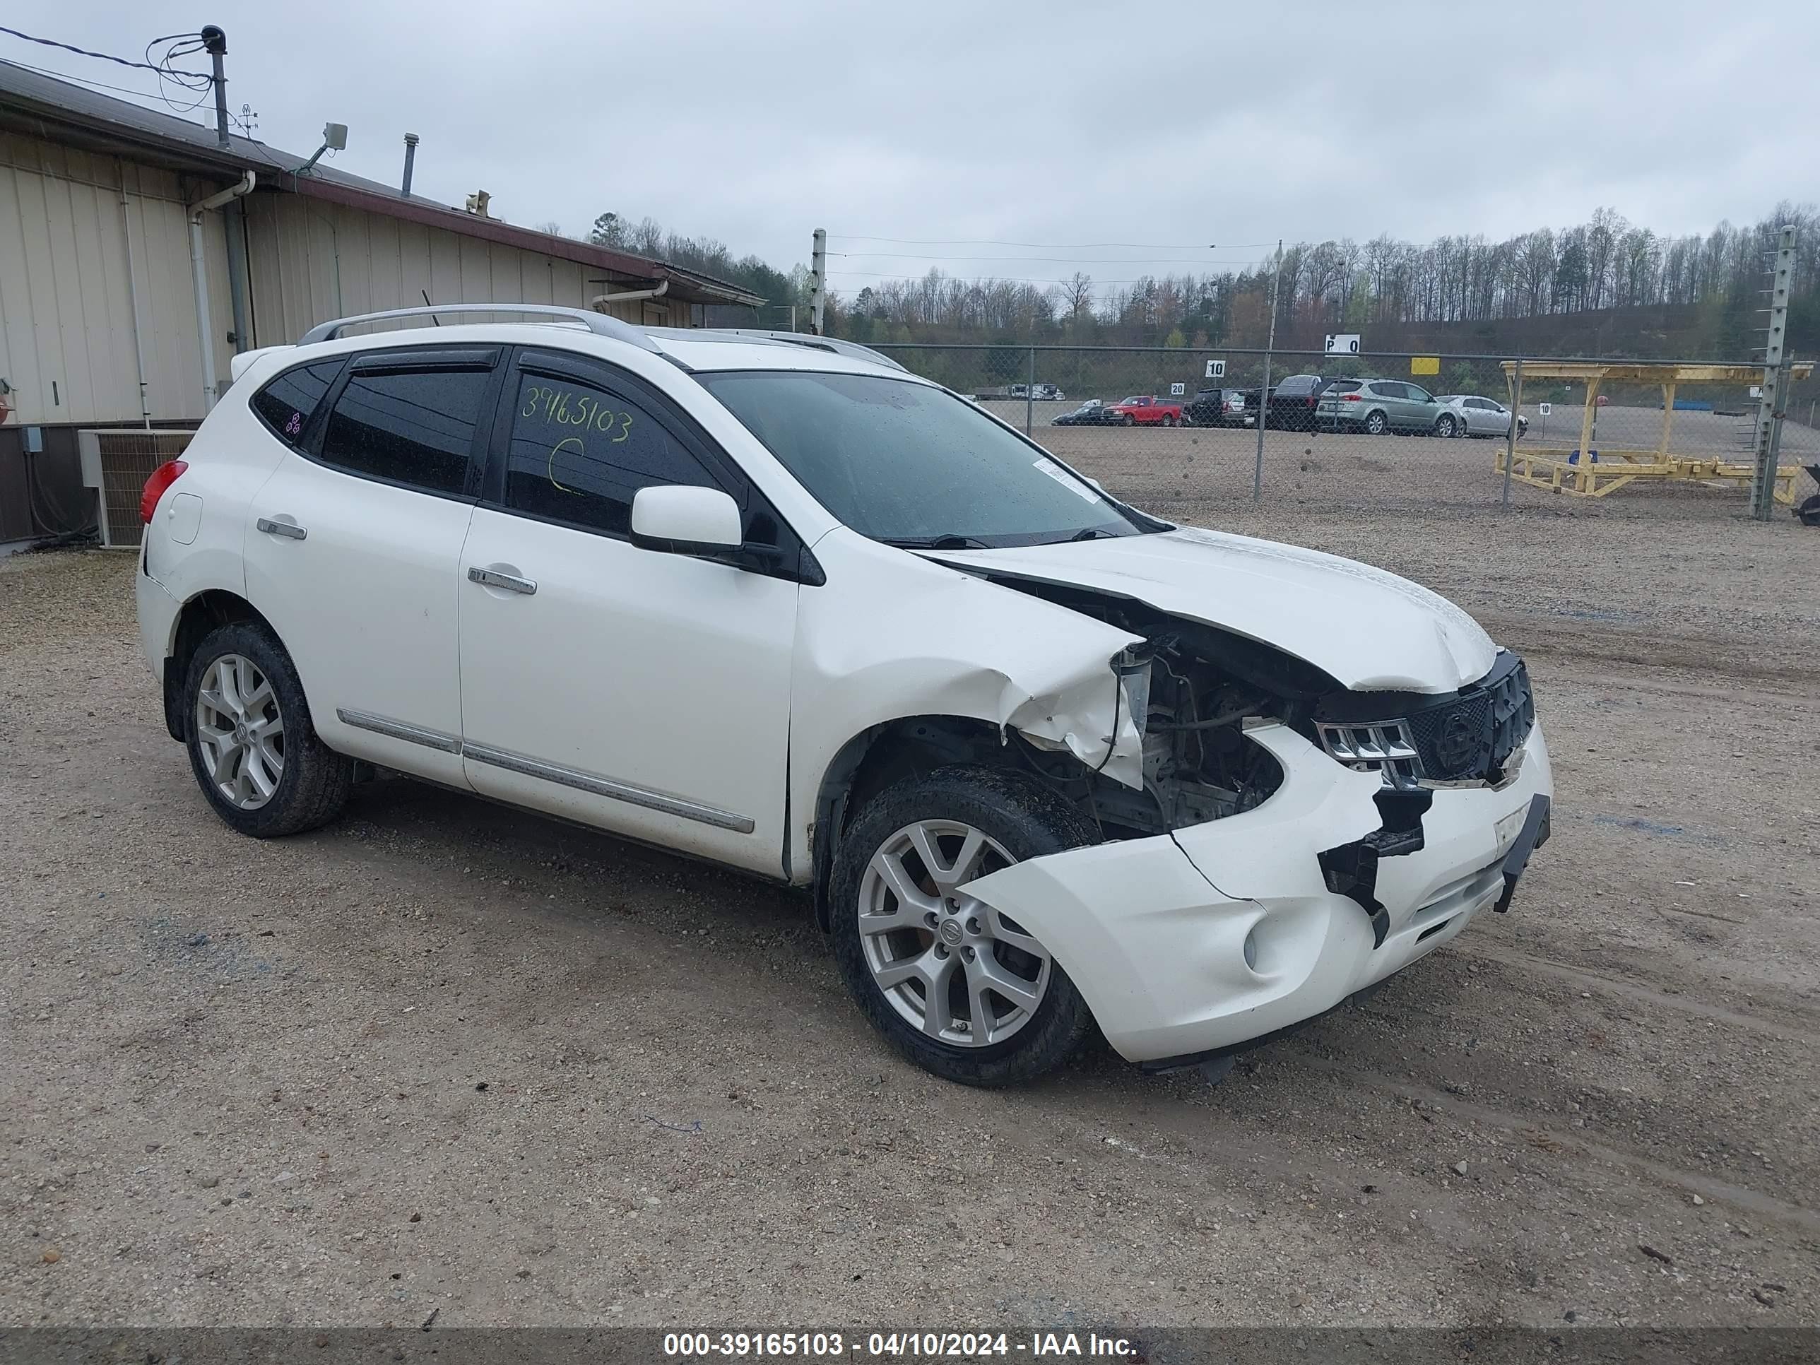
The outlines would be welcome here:
<svg viewBox="0 0 1820 1365">
<path fill-rule="evenodd" d="M 1815 1323 L 1820 533 L 1505 513 L 1487 442 L 1274 435 L 1252 510 L 1250 433 L 1136 435 L 1065 453 L 1529 657 L 1558 817 L 1509 915 L 1218 1087 L 965 1090 L 795 895 L 406 781 L 229 834 L 133 561 L 18 555 L 0 1321 Z"/>
</svg>

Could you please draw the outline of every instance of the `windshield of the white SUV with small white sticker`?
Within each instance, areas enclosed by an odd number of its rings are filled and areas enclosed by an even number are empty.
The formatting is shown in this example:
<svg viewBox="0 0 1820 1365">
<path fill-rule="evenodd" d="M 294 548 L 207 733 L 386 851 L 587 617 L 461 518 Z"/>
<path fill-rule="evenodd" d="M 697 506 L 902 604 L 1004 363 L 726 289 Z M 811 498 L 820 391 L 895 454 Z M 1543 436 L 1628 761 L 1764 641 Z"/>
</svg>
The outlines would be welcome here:
<svg viewBox="0 0 1820 1365">
<path fill-rule="evenodd" d="M 695 379 L 817 502 L 874 541 L 959 550 L 1152 530 L 1041 446 L 928 384 L 804 369 Z"/>
</svg>

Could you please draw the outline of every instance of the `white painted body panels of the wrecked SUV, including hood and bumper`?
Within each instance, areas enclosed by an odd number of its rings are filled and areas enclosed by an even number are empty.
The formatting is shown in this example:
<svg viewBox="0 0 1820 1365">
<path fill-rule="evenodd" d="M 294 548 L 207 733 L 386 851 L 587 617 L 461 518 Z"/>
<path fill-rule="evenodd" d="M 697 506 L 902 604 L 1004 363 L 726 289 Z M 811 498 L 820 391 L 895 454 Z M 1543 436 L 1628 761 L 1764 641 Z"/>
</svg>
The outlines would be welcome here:
<svg viewBox="0 0 1820 1365">
<path fill-rule="evenodd" d="M 826 582 L 808 588 L 642 550 L 353 479 L 288 451 L 248 397 L 282 366 L 375 344 L 351 339 L 257 357 L 191 442 L 189 470 L 160 504 L 182 499 L 182 513 L 153 519 L 149 573 L 136 575 L 155 672 L 180 602 L 209 588 L 233 592 L 273 622 L 331 746 L 801 885 L 814 875 L 810 835 L 824 777 L 843 748 L 890 721 L 985 721 L 1141 786 L 1143 737 L 1114 672 L 1138 637 L 988 582 L 983 570 L 1143 601 L 1267 641 L 1350 688 L 1447 692 L 1492 664 L 1485 633 L 1425 588 L 1265 541 L 1178 530 L 1028 550 L 892 548 L 837 524 L 662 355 L 548 326 L 442 328 L 435 339 L 573 349 L 642 375 L 744 468 L 812 546 Z M 664 344 L 695 368 L 925 382 L 821 351 Z M 1045 473 L 1070 477 L 1059 466 Z M 1096 495 L 1083 488 L 1083 497 Z M 662 502 L 653 506 L 662 511 Z M 191 511 L 195 542 L 177 544 L 169 531 L 187 526 Z M 695 519 L 706 506 L 682 511 Z M 308 535 L 262 533 L 260 517 Z M 468 568 L 537 588 L 526 595 L 470 582 Z M 344 708 L 439 732 L 455 748 L 506 750 L 710 806 L 752 828 L 379 735 L 342 723 Z M 1221 1046 L 1296 1023 L 1447 941 L 1496 894 L 1489 868 L 1514 812 L 1551 790 L 1538 730 L 1503 792 L 1436 792 L 1423 852 L 1380 868 L 1390 934 L 1374 950 L 1369 917 L 1327 890 L 1316 854 L 1380 826 L 1380 779 L 1336 764 L 1281 724 L 1247 733 L 1285 772 L 1258 808 L 1172 835 L 1037 857 L 970 888 L 1050 946 L 1127 1057 Z M 1465 899 L 1447 901 L 1445 914 L 1423 910 L 1443 892 Z M 1418 946 L 1441 919 L 1447 928 Z M 1254 966 L 1245 963 L 1247 935 Z"/>
</svg>

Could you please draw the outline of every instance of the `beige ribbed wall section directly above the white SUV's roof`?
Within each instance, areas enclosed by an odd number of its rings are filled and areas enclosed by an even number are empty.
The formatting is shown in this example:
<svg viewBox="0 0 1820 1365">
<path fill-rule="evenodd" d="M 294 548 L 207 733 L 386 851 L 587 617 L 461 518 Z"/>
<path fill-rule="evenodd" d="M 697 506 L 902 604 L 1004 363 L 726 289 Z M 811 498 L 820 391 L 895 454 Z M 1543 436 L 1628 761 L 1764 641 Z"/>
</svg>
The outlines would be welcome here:
<svg viewBox="0 0 1820 1365">
<path fill-rule="evenodd" d="M 590 284 L 602 271 L 499 242 L 389 218 L 302 195 L 253 195 L 253 333 L 260 346 L 295 342 L 309 328 L 351 313 L 437 304 L 566 304 L 632 288 Z M 688 326 L 688 306 L 624 304 L 628 322 Z M 515 318 L 502 318 L 515 320 Z"/>
</svg>

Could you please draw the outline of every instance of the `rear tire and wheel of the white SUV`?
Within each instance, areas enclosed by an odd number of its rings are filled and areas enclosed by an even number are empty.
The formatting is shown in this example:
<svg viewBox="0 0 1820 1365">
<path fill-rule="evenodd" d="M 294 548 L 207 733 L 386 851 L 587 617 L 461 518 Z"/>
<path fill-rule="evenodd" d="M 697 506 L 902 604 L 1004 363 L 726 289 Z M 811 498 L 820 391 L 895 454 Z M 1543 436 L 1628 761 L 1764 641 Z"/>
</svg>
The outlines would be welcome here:
<svg viewBox="0 0 1820 1365">
<path fill-rule="evenodd" d="M 197 784 L 240 834 L 300 834 L 346 804 L 353 759 L 317 737 L 297 668 L 264 622 L 235 621 L 197 646 L 184 717 Z"/>
</svg>

